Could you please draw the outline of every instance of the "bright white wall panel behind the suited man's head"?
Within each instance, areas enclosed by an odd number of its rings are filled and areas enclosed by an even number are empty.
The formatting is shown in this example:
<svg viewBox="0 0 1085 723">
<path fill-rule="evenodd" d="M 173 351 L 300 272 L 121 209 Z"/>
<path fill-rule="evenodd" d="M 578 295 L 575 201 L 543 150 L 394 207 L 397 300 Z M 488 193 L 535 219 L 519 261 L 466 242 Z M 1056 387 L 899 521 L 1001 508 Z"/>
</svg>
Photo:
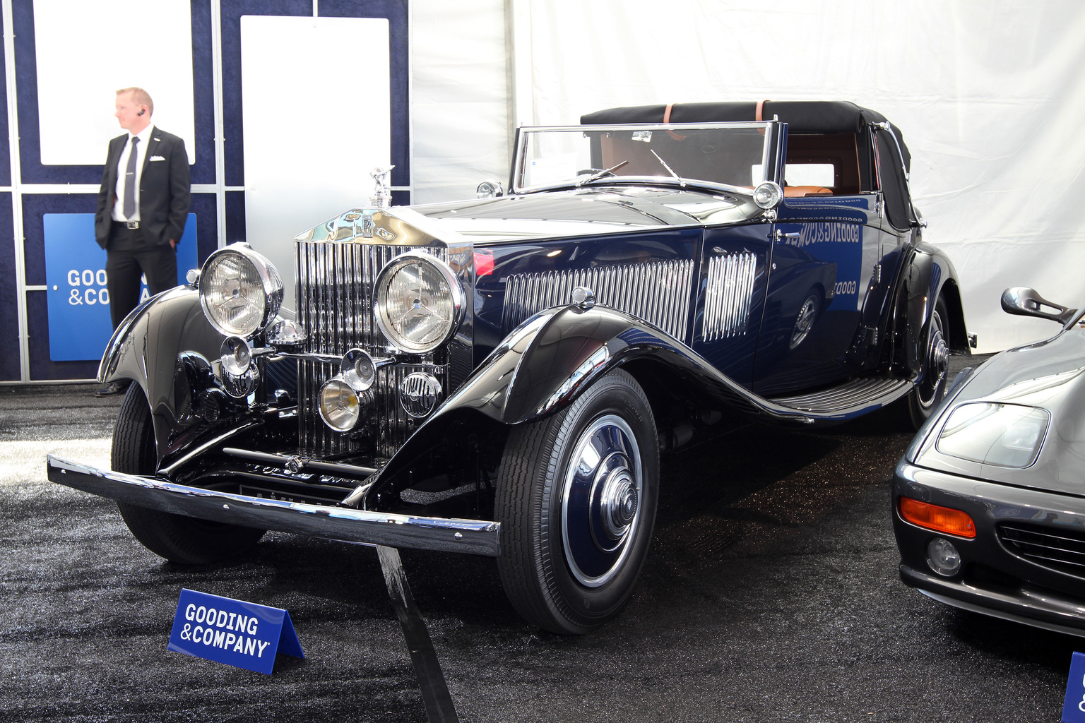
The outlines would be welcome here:
<svg viewBox="0 0 1085 723">
<path fill-rule="evenodd" d="M 100 166 L 124 132 L 115 93 L 133 86 L 195 163 L 188 0 L 34 0 L 34 37 L 42 164 Z"/>
</svg>

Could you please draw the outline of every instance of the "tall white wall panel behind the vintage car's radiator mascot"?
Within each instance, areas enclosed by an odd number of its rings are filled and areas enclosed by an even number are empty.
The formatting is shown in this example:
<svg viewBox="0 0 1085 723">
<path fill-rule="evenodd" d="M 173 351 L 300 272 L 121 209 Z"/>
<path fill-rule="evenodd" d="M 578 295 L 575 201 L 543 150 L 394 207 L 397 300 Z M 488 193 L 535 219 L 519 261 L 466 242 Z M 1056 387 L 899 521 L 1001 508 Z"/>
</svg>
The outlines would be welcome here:
<svg viewBox="0 0 1085 723">
<path fill-rule="evenodd" d="M 245 15 L 241 70 L 246 240 L 293 269 L 294 236 L 368 205 L 388 165 L 388 23 Z"/>
</svg>

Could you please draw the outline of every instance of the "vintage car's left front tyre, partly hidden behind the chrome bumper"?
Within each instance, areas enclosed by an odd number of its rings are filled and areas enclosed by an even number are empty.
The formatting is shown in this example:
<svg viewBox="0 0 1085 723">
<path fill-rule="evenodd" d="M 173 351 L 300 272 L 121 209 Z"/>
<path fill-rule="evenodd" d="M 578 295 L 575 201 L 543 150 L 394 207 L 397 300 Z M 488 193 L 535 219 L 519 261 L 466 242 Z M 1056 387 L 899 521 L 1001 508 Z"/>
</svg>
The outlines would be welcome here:
<svg viewBox="0 0 1085 723">
<path fill-rule="evenodd" d="M 128 387 L 113 430 L 113 468 L 131 475 L 153 475 L 157 455 L 151 406 L 138 384 Z M 252 547 L 264 530 L 173 515 L 118 502 L 120 516 L 151 552 L 182 565 L 218 563 Z"/>
</svg>

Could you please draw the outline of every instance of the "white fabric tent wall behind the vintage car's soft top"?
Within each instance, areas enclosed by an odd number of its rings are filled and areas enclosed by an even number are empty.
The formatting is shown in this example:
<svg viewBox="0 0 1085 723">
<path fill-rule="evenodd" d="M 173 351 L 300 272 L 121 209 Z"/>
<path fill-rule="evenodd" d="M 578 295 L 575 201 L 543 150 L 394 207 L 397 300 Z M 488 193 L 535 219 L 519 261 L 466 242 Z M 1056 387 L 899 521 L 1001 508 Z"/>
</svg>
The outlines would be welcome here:
<svg viewBox="0 0 1085 723">
<path fill-rule="evenodd" d="M 1056 331 L 1005 314 L 1007 286 L 1085 302 L 1080 0 L 412 4 L 418 202 L 503 180 L 509 118 L 565 124 L 615 105 L 848 100 L 903 130 L 924 238 L 957 267 L 980 351 Z"/>
</svg>

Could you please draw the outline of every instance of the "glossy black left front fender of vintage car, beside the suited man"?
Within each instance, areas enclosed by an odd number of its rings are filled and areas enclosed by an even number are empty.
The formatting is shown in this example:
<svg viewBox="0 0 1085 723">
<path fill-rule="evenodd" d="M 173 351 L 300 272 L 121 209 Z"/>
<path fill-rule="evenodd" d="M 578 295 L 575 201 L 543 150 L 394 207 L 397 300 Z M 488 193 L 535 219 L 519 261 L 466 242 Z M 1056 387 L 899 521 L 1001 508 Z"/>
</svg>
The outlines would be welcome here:
<svg viewBox="0 0 1085 723">
<path fill-rule="evenodd" d="M 222 336 L 200 307 L 200 294 L 178 286 L 136 307 L 117 326 L 98 367 L 101 383 L 131 379 L 142 387 L 151 404 L 158 459 L 168 453 L 182 421 L 184 387 L 178 391 L 181 352 L 218 359 Z"/>
</svg>

